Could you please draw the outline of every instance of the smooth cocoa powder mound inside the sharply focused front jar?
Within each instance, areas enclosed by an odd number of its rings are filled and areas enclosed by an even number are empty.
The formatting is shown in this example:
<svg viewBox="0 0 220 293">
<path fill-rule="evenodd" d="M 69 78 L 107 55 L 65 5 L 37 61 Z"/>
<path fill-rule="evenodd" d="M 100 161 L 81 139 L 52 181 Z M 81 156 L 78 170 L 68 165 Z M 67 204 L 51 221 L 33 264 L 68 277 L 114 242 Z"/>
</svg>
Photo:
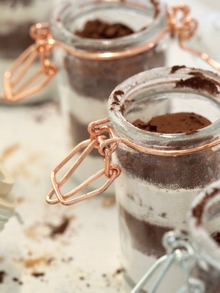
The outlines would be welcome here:
<svg viewBox="0 0 220 293">
<path fill-rule="evenodd" d="M 139 119 L 133 122 L 134 126 L 145 131 L 172 134 L 192 133 L 210 124 L 211 122 L 205 117 L 187 112 L 156 116 L 147 123 Z"/>
</svg>

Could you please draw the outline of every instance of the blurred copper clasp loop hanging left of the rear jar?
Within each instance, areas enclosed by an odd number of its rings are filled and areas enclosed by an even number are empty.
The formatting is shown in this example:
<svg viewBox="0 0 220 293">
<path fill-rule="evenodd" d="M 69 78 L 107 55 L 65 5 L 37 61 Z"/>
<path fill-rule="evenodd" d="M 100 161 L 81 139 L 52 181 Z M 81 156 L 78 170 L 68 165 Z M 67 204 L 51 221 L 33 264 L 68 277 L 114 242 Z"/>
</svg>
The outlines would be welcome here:
<svg viewBox="0 0 220 293">
<path fill-rule="evenodd" d="M 56 65 L 48 59 L 55 42 L 50 35 L 49 28 L 49 24 L 41 23 L 31 26 L 30 35 L 35 43 L 28 47 L 5 72 L 5 91 L 2 93 L 4 100 L 17 102 L 40 90 L 56 74 Z M 21 84 L 21 79 L 37 58 L 40 59 L 40 69 L 30 78 L 24 78 L 24 82 Z M 17 73 L 15 73 L 16 71 Z M 36 84 L 37 80 L 38 83 Z"/>
</svg>

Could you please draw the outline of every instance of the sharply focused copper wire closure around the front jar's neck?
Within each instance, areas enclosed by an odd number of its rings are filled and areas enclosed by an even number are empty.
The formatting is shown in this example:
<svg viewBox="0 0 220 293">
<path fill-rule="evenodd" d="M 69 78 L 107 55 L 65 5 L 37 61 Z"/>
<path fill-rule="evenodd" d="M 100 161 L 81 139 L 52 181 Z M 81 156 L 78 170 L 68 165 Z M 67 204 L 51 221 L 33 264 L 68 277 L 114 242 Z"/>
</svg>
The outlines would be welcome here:
<svg viewBox="0 0 220 293">
<path fill-rule="evenodd" d="M 111 154 L 117 149 L 119 143 L 126 144 L 128 147 L 131 147 L 137 151 L 141 151 L 146 154 L 157 155 L 157 156 L 183 156 L 187 154 L 192 154 L 198 151 L 206 150 L 211 147 L 217 146 L 220 144 L 220 138 L 216 138 L 216 140 L 211 141 L 210 143 L 204 144 L 199 147 L 194 147 L 191 149 L 183 149 L 183 150 L 160 150 L 160 149 L 151 149 L 148 147 L 143 147 L 132 142 L 129 139 L 124 137 L 118 137 L 110 125 L 105 125 L 108 123 L 109 117 L 106 117 L 101 120 L 96 120 L 91 122 L 88 126 L 88 132 L 90 134 L 90 139 L 84 140 L 79 143 L 60 163 L 58 163 L 55 168 L 53 168 L 50 180 L 52 182 L 53 188 L 50 190 L 48 195 L 46 196 L 46 200 L 50 204 L 55 204 L 61 202 L 63 205 L 71 205 L 77 203 L 79 201 L 85 200 L 89 197 L 93 197 L 104 192 L 113 181 L 120 175 L 121 168 L 117 164 L 111 164 Z M 106 136 L 102 135 L 104 132 L 108 132 L 110 138 L 108 139 Z M 83 148 L 86 149 L 82 152 L 82 154 L 78 157 L 75 163 L 71 166 L 71 168 L 67 171 L 67 173 L 57 182 L 55 178 L 55 174 L 57 171 L 64 166 L 67 161 L 69 161 L 78 151 Z M 105 157 L 104 159 L 104 168 L 99 172 L 91 176 L 89 179 L 81 183 L 77 188 L 71 190 L 70 192 L 61 195 L 59 188 L 70 178 L 72 173 L 76 170 L 79 164 L 85 159 L 85 157 L 92 151 L 93 148 L 98 149 L 99 153 Z M 81 195 L 79 197 L 75 197 L 70 200 L 66 200 L 69 197 L 72 197 L 76 193 L 78 193 L 83 188 L 87 187 L 90 183 L 98 179 L 100 176 L 105 175 L 108 179 L 107 182 L 99 189 L 89 192 L 87 194 Z M 52 199 L 53 195 L 56 195 L 55 198 Z"/>
</svg>

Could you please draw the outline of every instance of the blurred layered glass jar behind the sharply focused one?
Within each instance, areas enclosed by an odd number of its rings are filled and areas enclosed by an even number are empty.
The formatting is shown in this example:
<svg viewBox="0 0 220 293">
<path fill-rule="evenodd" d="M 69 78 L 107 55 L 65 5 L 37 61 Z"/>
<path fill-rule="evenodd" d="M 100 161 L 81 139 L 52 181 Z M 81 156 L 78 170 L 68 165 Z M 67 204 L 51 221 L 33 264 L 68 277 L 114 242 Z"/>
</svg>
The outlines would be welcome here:
<svg viewBox="0 0 220 293">
<path fill-rule="evenodd" d="M 53 38 L 88 53 L 88 57 L 77 57 L 59 47 L 54 47 L 55 62 L 59 66 L 58 88 L 61 107 L 68 132 L 68 148 L 88 139 L 87 126 L 97 117 L 107 115 L 107 99 L 111 91 L 128 77 L 141 71 L 165 65 L 165 40 L 155 38 L 167 27 L 166 7 L 163 2 L 145 0 L 105 1 L 83 0 L 76 3 L 62 2 L 51 18 Z M 135 33 L 114 39 L 81 38 L 74 34 L 93 19 L 109 23 L 123 23 Z M 151 45 L 144 52 L 108 60 L 91 59 L 94 52 L 114 54 L 118 51 L 136 50 Z M 154 43 L 155 42 L 155 43 Z M 90 54 L 90 55 L 89 55 Z M 97 156 L 98 155 L 98 156 Z M 76 181 L 88 178 L 96 169 L 103 168 L 97 151 L 88 156 L 86 169 L 77 170 Z M 95 188 L 97 185 L 91 185 Z M 111 189 L 113 192 L 113 189 Z M 109 193 L 109 190 L 108 190 Z"/>
</svg>

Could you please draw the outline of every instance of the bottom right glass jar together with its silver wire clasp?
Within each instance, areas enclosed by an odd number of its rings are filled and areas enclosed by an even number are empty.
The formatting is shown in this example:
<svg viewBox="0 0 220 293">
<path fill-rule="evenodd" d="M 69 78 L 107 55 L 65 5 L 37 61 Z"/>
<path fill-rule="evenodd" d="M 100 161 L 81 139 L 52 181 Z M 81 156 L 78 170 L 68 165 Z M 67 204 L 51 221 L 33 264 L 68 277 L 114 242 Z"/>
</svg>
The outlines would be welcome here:
<svg viewBox="0 0 220 293">
<path fill-rule="evenodd" d="M 220 288 L 220 181 L 204 188 L 188 211 L 189 235 L 168 232 L 163 236 L 167 254 L 162 256 L 143 276 L 131 293 L 139 293 L 157 273 L 149 293 L 157 287 L 173 263 L 187 276 L 186 284 L 178 293 L 218 293 Z M 170 282 L 173 282 L 170 279 Z"/>
</svg>

